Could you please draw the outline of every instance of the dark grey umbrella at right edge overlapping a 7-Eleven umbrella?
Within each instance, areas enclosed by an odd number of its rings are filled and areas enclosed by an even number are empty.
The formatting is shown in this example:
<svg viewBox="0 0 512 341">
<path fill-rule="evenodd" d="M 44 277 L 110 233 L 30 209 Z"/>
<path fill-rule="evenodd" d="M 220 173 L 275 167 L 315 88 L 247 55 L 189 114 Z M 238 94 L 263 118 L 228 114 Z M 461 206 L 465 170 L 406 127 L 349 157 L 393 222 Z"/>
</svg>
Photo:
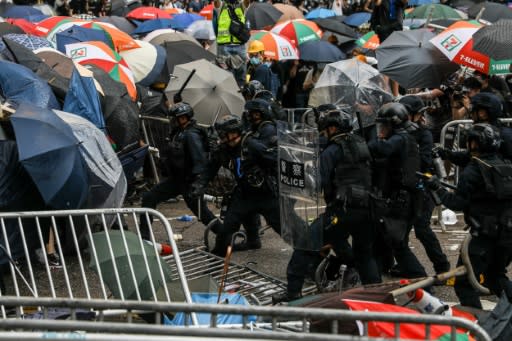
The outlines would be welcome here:
<svg viewBox="0 0 512 341">
<path fill-rule="evenodd" d="M 493 59 L 512 59 L 512 20 L 499 20 L 476 31 L 473 50 Z"/>
</svg>

